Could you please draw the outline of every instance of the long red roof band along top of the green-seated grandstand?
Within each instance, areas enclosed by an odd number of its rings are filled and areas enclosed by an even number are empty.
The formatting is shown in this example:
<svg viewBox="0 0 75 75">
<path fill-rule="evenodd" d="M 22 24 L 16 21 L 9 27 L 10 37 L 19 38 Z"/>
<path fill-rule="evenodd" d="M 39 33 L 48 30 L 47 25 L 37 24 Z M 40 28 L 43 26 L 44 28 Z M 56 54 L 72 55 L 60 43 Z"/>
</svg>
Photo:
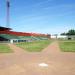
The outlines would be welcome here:
<svg viewBox="0 0 75 75">
<path fill-rule="evenodd" d="M 39 33 L 10 31 L 10 28 L 6 28 L 6 27 L 0 27 L 0 34 L 11 34 L 16 36 L 47 36 L 46 34 L 39 34 Z"/>
</svg>

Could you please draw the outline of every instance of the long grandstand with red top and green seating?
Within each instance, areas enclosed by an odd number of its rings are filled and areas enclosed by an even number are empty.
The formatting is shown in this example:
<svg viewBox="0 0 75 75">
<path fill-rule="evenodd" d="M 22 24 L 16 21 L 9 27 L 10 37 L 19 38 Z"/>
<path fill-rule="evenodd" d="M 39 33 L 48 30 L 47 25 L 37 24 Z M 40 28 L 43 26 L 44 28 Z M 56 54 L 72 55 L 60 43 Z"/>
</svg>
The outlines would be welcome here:
<svg viewBox="0 0 75 75">
<path fill-rule="evenodd" d="M 15 32 L 11 31 L 11 28 L 0 27 L 0 41 L 4 42 L 31 42 L 35 40 L 46 40 L 49 39 L 48 34 L 37 34 L 37 33 L 26 33 L 26 32 Z"/>
</svg>

